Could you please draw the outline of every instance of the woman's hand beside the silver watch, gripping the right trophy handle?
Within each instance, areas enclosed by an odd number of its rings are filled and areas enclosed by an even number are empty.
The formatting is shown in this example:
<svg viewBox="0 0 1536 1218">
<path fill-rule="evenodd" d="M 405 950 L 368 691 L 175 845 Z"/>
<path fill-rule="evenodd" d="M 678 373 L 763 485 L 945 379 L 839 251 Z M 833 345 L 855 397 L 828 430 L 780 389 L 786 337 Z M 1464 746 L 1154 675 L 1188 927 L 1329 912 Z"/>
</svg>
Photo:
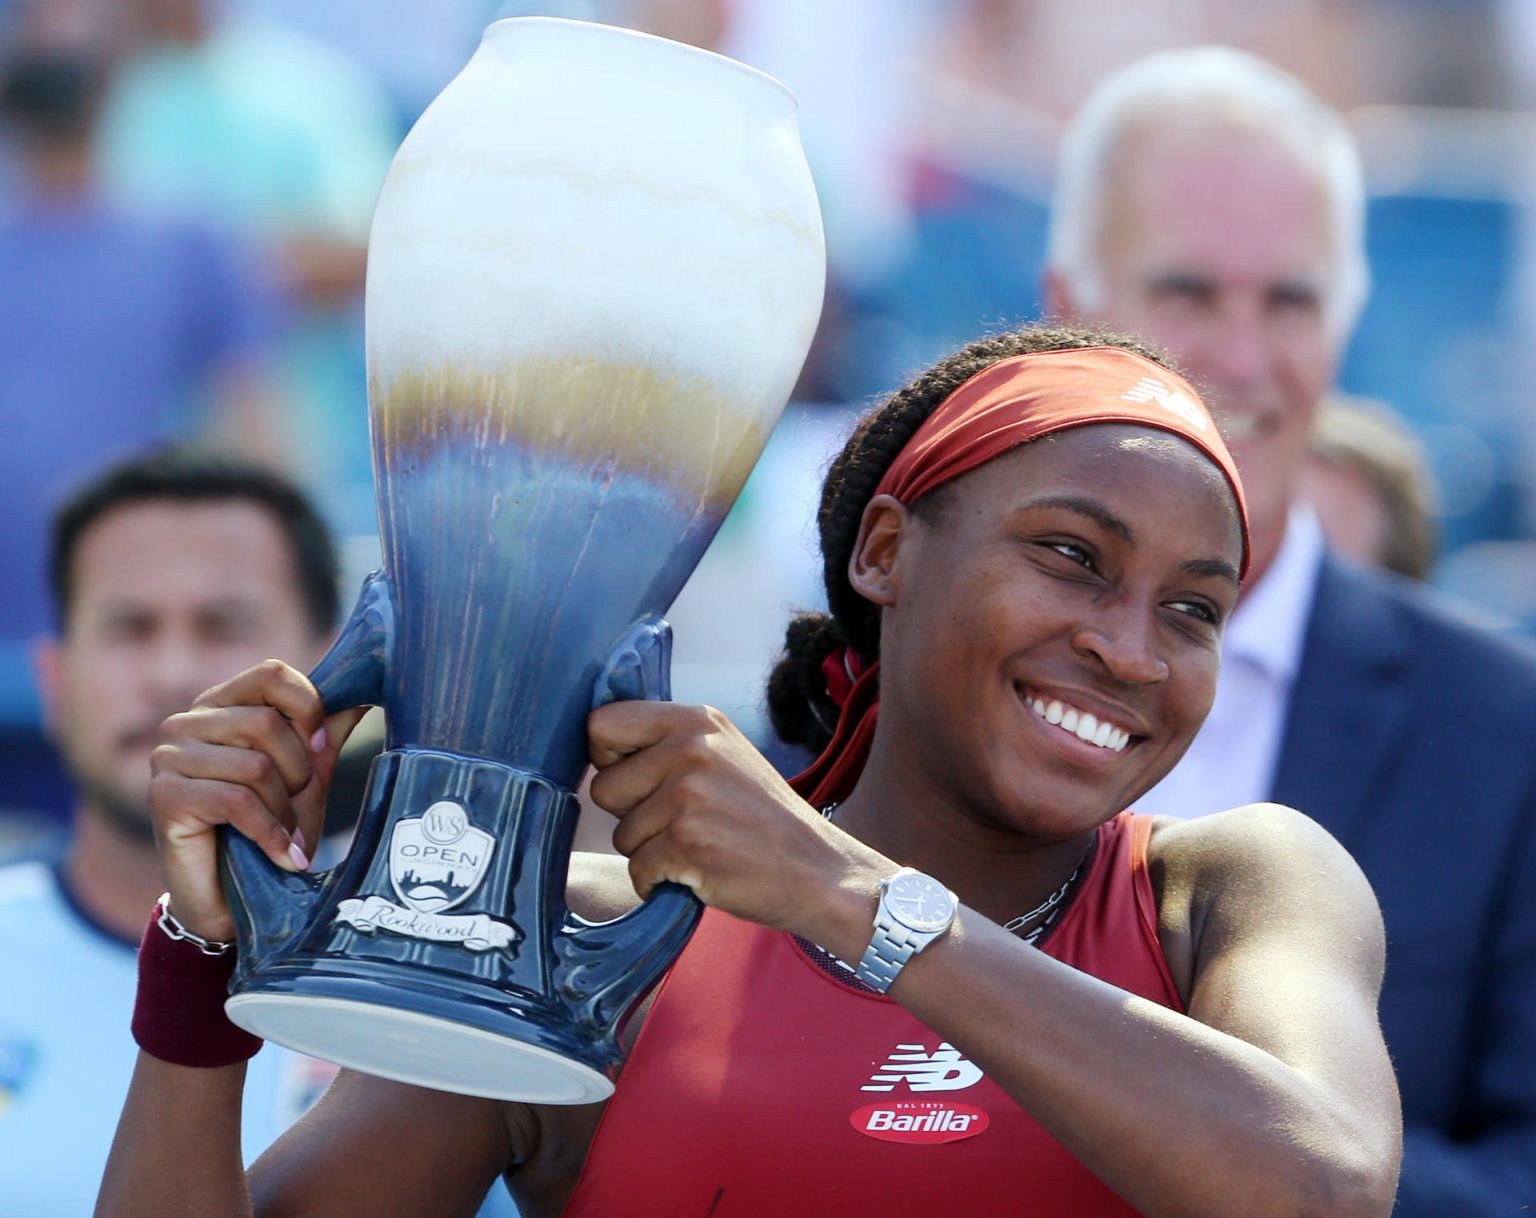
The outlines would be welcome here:
<svg viewBox="0 0 1536 1218">
<path fill-rule="evenodd" d="M 817 816 L 710 707 L 613 702 L 587 733 L 591 800 L 619 817 L 613 845 L 642 897 L 673 880 L 705 905 L 814 937 L 839 894 L 872 912 L 895 869 Z"/>
</svg>

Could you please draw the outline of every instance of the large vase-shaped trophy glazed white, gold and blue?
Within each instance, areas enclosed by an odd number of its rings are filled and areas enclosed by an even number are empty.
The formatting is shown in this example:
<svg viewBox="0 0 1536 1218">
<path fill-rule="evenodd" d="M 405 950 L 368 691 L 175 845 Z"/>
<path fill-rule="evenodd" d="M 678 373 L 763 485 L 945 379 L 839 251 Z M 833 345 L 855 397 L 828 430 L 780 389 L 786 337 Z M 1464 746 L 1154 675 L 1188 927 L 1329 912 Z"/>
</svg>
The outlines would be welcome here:
<svg viewBox="0 0 1536 1218">
<path fill-rule="evenodd" d="M 382 705 L 321 875 L 223 842 L 230 1018 L 370 1074 L 607 1097 L 616 1028 L 691 932 L 664 886 L 564 899 L 585 716 L 667 697 L 671 604 L 762 452 L 825 275 L 794 98 L 581 22 L 485 31 L 406 138 L 369 243 L 384 570 L 313 673 Z"/>
</svg>

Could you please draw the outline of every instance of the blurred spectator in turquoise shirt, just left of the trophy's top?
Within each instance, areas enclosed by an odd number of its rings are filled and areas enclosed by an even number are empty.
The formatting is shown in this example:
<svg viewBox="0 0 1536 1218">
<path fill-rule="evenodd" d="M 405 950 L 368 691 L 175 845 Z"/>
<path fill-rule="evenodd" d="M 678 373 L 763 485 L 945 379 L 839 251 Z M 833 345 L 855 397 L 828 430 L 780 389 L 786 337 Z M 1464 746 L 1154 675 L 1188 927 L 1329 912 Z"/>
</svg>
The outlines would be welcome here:
<svg viewBox="0 0 1536 1218">
<path fill-rule="evenodd" d="M 372 531 L 361 289 L 399 138 L 382 86 L 296 31 L 215 0 L 131 0 L 134 49 L 97 152 L 118 198 L 258 243 L 295 306 L 281 346 L 286 467 Z"/>
</svg>

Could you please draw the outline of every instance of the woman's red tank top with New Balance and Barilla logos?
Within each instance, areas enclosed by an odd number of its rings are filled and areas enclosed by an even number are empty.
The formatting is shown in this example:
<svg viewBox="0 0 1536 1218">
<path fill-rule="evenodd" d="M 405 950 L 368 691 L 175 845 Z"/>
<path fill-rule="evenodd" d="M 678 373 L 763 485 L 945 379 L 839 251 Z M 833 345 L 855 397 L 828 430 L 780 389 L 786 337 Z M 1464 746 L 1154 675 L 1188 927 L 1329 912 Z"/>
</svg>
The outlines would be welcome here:
<svg viewBox="0 0 1536 1218">
<path fill-rule="evenodd" d="M 1150 820 L 1098 829 L 1048 955 L 1181 1009 Z M 562 1218 L 1134 1215 L 899 1003 L 790 935 L 705 912 L 664 981 Z"/>
</svg>

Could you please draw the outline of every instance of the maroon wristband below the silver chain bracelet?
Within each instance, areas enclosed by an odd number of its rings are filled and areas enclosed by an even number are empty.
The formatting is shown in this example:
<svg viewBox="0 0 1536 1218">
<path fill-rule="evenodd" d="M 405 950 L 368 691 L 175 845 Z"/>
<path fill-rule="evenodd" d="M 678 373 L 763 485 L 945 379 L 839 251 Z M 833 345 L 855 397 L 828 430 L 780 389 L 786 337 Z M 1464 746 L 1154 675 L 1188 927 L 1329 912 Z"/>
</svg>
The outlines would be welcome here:
<svg viewBox="0 0 1536 1218">
<path fill-rule="evenodd" d="M 224 1014 L 235 952 L 207 955 L 160 926 L 160 905 L 138 943 L 138 997 L 134 1040 L 175 1066 L 233 1066 L 261 1048 L 261 1037 L 237 1028 Z"/>
</svg>

